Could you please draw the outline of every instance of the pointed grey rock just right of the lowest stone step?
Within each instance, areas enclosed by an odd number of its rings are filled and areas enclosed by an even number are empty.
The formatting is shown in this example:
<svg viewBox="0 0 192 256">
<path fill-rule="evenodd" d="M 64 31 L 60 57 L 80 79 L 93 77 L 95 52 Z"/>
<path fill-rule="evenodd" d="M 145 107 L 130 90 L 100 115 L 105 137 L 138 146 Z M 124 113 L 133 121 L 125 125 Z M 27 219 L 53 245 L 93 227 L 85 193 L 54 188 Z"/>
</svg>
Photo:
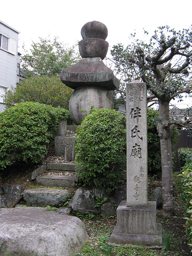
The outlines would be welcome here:
<svg viewBox="0 0 192 256">
<path fill-rule="evenodd" d="M 72 208 L 73 213 L 93 213 L 94 215 L 97 215 L 99 210 L 98 208 L 94 208 L 95 205 L 96 201 L 94 194 L 89 190 L 82 190 L 79 188 L 67 207 Z"/>
</svg>

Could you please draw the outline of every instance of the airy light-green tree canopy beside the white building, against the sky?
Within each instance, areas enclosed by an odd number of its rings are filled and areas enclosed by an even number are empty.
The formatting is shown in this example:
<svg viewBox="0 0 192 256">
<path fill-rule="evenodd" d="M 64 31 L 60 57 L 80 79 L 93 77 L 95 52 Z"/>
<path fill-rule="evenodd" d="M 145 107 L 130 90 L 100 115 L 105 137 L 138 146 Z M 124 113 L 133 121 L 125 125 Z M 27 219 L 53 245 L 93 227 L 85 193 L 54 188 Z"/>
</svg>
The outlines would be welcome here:
<svg viewBox="0 0 192 256">
<path fill-rule="evenodd" d="M 23 48 L 25 46 L 23 45 Z M 60 75 L 63 68 L 68 68 L 79 59 L 75 46 L 67 47 L 57 37 L 53 40 L 39 37 L 39 42 L 32 42 L 30 53 L 21 56 L 22 68 L 27 75 Z"/>
</svg>

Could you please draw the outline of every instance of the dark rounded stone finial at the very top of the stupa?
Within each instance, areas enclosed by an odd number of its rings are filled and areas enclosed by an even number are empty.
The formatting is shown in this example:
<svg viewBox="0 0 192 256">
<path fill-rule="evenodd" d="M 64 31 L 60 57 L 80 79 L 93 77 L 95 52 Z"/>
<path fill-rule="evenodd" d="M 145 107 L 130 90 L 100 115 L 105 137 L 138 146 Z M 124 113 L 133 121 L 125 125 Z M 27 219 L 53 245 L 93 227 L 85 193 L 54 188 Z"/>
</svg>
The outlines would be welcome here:
<svg viewBox="0 0 192 256">
<path fill-rule="evenodd" d="M 85 38 L 101 38 L 105 40 L 108 35 L 107 27 L 99 21 L 87 22 L 81 28 L 81 36 Z"/>
</svg>

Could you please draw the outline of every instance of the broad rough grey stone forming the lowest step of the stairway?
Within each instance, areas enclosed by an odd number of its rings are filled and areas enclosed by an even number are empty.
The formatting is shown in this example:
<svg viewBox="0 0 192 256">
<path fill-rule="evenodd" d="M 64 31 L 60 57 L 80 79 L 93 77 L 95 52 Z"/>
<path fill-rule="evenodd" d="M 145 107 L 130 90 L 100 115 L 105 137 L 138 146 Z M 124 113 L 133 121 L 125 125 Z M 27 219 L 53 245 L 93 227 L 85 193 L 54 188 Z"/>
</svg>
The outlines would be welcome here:
<svg viewBox="0 0 192 256">
<path fill-rule="evenodd" d="M 23 192 L 23 199 L 32 206 L 59 206 L 70 197 L 71 192 L 65 189 L 30 188 Z"/>
</svg>

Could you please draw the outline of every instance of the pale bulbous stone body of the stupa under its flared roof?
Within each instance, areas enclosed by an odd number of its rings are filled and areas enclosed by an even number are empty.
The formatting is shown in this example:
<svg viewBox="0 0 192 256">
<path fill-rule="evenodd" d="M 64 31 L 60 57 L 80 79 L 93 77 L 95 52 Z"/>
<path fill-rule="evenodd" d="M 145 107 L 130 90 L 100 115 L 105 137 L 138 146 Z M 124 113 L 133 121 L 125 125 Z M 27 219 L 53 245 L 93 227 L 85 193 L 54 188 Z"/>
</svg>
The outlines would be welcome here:
<svg viewBox="0 0 192 256">
<path fill-rule="evenodd" d="M 112 96 L 107 89 L 97 86 L 80 86 L 71 95 L 69 100 L 69 113 L 76 124 L 80 124 L 90 107 L 113 109 Z M 84 112 L 81 112 L 84 110 Z"/>
</svg>

